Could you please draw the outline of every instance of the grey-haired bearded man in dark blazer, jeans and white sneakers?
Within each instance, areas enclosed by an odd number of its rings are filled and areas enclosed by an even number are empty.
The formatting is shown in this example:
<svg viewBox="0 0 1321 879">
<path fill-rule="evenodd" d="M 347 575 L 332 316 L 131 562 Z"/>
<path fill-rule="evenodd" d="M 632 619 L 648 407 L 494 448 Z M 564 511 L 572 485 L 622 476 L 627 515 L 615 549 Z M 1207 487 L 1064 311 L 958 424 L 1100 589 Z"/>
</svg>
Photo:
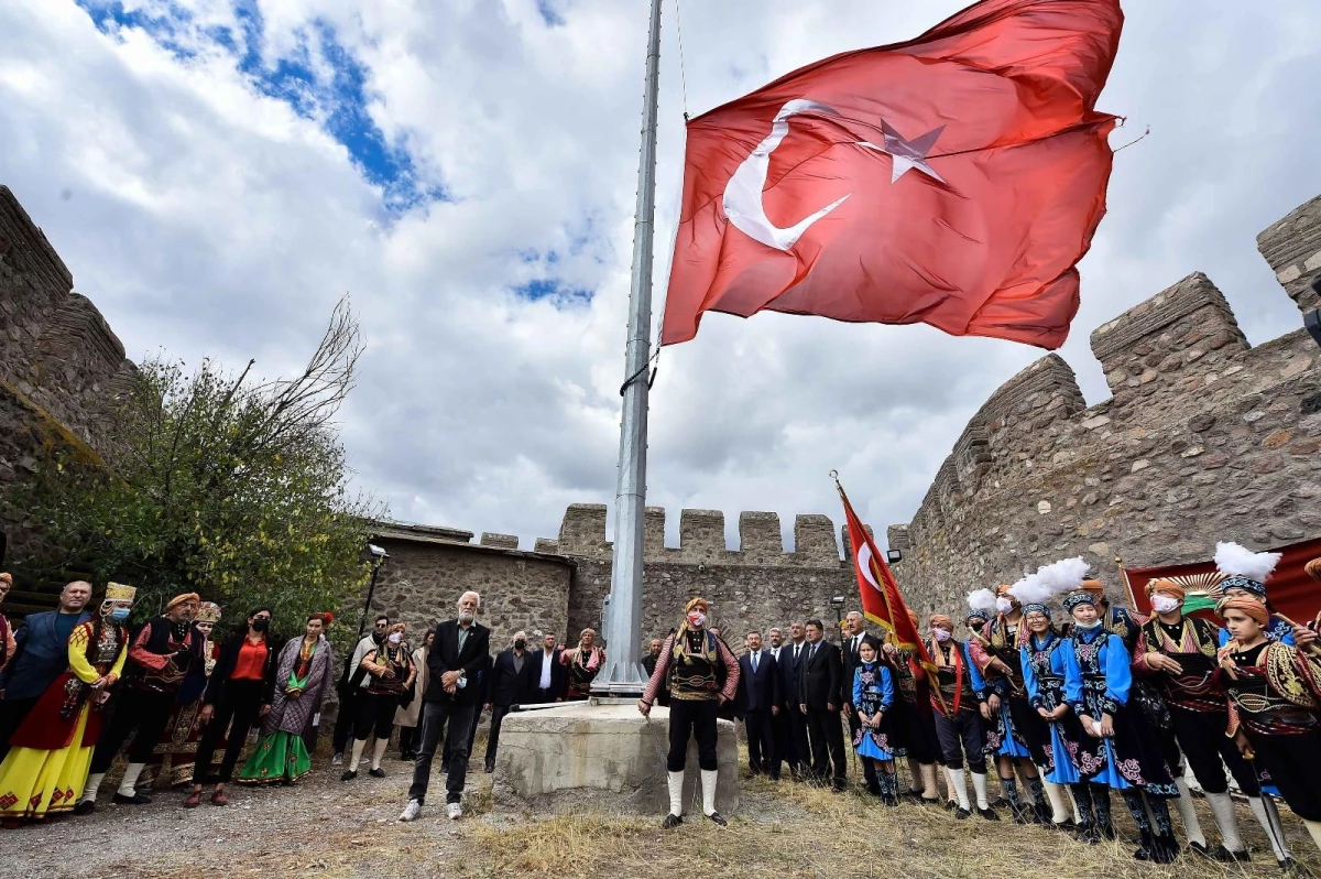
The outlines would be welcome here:
<svg viewBox="0 0 1321 879">
<path fill-rule="evenodd" d="M 413 781 L 408 788 L 408 805 L 400 821 L 413 821 L 421 814 L 431 781 L 431 761 L 440 736 L 449 743 L 449 773 L 445 779 L 445 813 L 450 818 L 464 814 L 460 800 L 468 776 L 468 732 L 481 699 L 477 675 L 490 669 L 491 631 L 477 623 L 481 596 L 464 592 L 458 599 L 458 617 L 436 627 L 436 640 L 427 653 L 427 693 L 421 706 L 421 747 L 413 764 Z"/>
</svg>

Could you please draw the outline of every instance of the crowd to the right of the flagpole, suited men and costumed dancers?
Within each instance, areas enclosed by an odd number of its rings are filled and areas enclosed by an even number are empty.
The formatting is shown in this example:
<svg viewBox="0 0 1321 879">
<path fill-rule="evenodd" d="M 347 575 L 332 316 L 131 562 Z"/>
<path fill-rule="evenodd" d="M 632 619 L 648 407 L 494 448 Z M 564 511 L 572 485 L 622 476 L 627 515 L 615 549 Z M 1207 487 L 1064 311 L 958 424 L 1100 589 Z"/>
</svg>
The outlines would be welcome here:
<svg viewBox="0 0 1321 879">
<path fill-rule="evenodd" d="M 868 632 L 853 611 L 839 645 L 812 619 L 790 624 L 787 637 L 770 628 L 766 644 L 749 632 L 734 658 L 703 629 L 708 608 L 695 599 L 643 661 L 651 678 L 639 710 L 649 714 L 664 695 L 671 705 L 664 826 L 683 820 L 690 732 L 704 813 L 724 823 L 713 806 L 724 710 L 745 724 L 753 775 L 778 780 L 787 767 L 794 780 L 838 792 L 848 786 L 847 724 L 861 784 L 888 806 L 909 797 L 959 820 L 999 821 L 1007 812 L 1017 823 L 1096 843 L 1116 838 L 1115 793 L 1140 837 L 1133 857 L 1159 863 L 1182 851 L 1172 808 L 1189 851 L 1250 859 L 1232 777 L 1280 867 L 1297 871 L 1276 800 L 1321 847 L 1321 615 L 1300 625 L 1271 607 L 1266 582 L 1277 554 L 1219 550 L 1219 625 L 1186 616 L 1186 586 L 1170 579 L 1147 584 L 1151 616 L 1114 605 L 1104 586 L 1085 576 L 1082 559 L 970 593 L 958 623 L 934 615 L 923 628 L 910 615 L 925 634 L 921 646 L 901 644 L 889 627 Z M 1308 571 L 1321 580 L 1321 559 Z M 1188 769 L 1219 830 L 1214 847 L 1193 809 Z"/>
</svg>

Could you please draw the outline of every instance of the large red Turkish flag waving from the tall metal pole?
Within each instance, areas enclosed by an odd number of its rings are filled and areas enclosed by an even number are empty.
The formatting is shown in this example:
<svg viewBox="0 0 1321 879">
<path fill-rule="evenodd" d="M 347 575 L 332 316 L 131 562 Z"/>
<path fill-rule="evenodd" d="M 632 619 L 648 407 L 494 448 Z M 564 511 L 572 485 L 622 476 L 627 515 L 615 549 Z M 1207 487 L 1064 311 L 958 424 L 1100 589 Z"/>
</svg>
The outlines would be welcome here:
<svg viewBox="0 0 1321 879">
<path fill-rule="evenodd" d="M 770 309 L 1059 348 L 1122 25 L 1119 0 L 984 0 L 690 122 L 662 344 Z"/>
</svg>

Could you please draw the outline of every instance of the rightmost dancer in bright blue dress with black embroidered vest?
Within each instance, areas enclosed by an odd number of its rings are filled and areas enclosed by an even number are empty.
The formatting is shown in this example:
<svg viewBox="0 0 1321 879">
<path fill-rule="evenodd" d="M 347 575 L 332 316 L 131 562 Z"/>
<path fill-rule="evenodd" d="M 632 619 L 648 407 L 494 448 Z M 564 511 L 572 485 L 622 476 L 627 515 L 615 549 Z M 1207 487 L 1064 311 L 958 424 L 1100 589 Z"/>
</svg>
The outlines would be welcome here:
<svg viewBox="0 0 1321 879">
<path fill-rule="evenodd" d="M 1102 627 L 1092 592 L 1069 593 L 1065 609 L 1074 619 L 1073 650 L 1066 653 L 1065 697 L 1087 734 L 1079 744 L 1075 765 L 1091 783 L 1075 788 L 1075 796 L 1091 794 L 1098 833 L 1114 838 L 1107 790 L 1119 790 L 1141 835 L 1141 847 L 1133 858 L 1169 863 L 1178 855 L 1178 843 L 1166 801 L 1178 796 L 1178 788 L 1147 715 L 1129 706 L 1131 657 L 1123 640 Z M 1089 804 L 1078 805 L 1086 820 Z"/>
</svg>

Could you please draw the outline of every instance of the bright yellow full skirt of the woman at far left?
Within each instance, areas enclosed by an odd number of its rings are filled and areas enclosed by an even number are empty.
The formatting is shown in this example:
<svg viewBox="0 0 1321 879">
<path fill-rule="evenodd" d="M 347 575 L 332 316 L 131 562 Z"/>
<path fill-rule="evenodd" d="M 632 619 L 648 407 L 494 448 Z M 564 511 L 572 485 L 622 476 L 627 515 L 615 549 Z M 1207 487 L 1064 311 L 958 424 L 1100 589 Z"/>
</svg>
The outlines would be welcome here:
<svg viewBox="0 0 1321 879">
<path fill-rule="evenodd" d="M 67 748 L 13 748 L 0 763 L 0 818 L 44 818 L 70 812 L 91 768 L 91 747 L 82 744 L 90 706 L 78 714 Z"/>
</svg>

